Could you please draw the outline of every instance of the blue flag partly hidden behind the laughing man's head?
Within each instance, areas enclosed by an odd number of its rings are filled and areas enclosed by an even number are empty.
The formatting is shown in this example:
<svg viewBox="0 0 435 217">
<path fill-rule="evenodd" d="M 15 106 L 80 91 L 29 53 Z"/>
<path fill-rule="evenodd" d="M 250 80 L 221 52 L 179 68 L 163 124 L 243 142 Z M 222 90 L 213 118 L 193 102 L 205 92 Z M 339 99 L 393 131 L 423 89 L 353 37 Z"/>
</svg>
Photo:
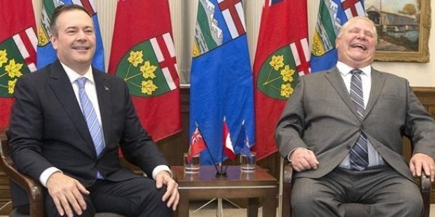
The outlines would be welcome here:
<svg viewBox="0 0 435 217">
<path fill-rule="evenodd" d="M 328 70 L 337 63 L 336 37 L 352 17 L 365 16 L 363 0 L 320 0 L 311 45 L 311 71 Z"/>
</svg>

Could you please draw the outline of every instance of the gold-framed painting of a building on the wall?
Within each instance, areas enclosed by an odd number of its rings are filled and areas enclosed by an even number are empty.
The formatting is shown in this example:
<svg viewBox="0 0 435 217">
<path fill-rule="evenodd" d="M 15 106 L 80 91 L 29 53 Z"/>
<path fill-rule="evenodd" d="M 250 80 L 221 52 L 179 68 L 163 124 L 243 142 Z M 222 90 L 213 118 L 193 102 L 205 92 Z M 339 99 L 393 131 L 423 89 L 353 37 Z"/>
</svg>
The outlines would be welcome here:
<svg viewBox="0 0 435 217">
<path fill-rule="evenodd" d="M 375 61 L 429 62 L 430 0 L 366 0 L 378 31 Z"/>
</svg>

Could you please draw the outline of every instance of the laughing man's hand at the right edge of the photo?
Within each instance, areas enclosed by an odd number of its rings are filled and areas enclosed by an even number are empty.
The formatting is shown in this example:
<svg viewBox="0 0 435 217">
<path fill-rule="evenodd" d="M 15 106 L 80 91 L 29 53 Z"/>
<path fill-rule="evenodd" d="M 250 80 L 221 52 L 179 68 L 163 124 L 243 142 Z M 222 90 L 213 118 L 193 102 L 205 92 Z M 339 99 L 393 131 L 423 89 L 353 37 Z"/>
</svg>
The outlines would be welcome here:
<svg viewBox="0 0 435 217">
<path fill-rule="evenodd" d="M 409 170 L 411 170 L 412 176 L 420 177 L 422 169 L 426 176 L 430 177 L 430 181 L 433 183 L 435 178 L 434 159 L 427 154 L 414 154 L 409 161 Z"/>
</svg>

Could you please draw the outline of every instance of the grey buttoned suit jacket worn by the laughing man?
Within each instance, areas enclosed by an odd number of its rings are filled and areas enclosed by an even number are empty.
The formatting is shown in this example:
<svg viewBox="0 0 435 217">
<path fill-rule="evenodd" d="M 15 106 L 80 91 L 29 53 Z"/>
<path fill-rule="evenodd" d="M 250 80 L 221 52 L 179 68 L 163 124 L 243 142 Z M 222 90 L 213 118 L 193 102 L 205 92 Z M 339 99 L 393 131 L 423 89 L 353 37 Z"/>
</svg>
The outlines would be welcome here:
<svg viewBox="0 0 435 217">
<path fill-rule="evenodd" d="M 413 154 L 435 157 L 434 120 L 408 81 L 373 68 L 363 120 L 337 68 L 300 77 L 278 121 L 276 141 L 284 157 L 298 147 L 311 149 L 318 169 L 296 177 L 320 178 L 340 165 L 361 132 L 387 164 L 410 180 L 414 178 L 402 155 L 403 136 L 412 141 Z"/>
</svg>

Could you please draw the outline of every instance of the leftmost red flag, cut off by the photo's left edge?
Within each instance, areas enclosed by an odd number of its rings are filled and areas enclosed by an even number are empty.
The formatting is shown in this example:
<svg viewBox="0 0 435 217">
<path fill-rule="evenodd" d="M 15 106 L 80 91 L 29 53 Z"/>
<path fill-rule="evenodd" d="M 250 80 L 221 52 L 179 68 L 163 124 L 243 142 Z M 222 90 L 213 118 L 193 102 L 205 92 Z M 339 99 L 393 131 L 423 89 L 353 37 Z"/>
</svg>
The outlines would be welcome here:
<svg viewBox="0 0 435 217">
<path fill-rule="evenodd" d="M 14 87 L 36 70 L 36 24 L 32 1 L 0 1 L 0 132 L 9 126 Z"/>
</svg>

